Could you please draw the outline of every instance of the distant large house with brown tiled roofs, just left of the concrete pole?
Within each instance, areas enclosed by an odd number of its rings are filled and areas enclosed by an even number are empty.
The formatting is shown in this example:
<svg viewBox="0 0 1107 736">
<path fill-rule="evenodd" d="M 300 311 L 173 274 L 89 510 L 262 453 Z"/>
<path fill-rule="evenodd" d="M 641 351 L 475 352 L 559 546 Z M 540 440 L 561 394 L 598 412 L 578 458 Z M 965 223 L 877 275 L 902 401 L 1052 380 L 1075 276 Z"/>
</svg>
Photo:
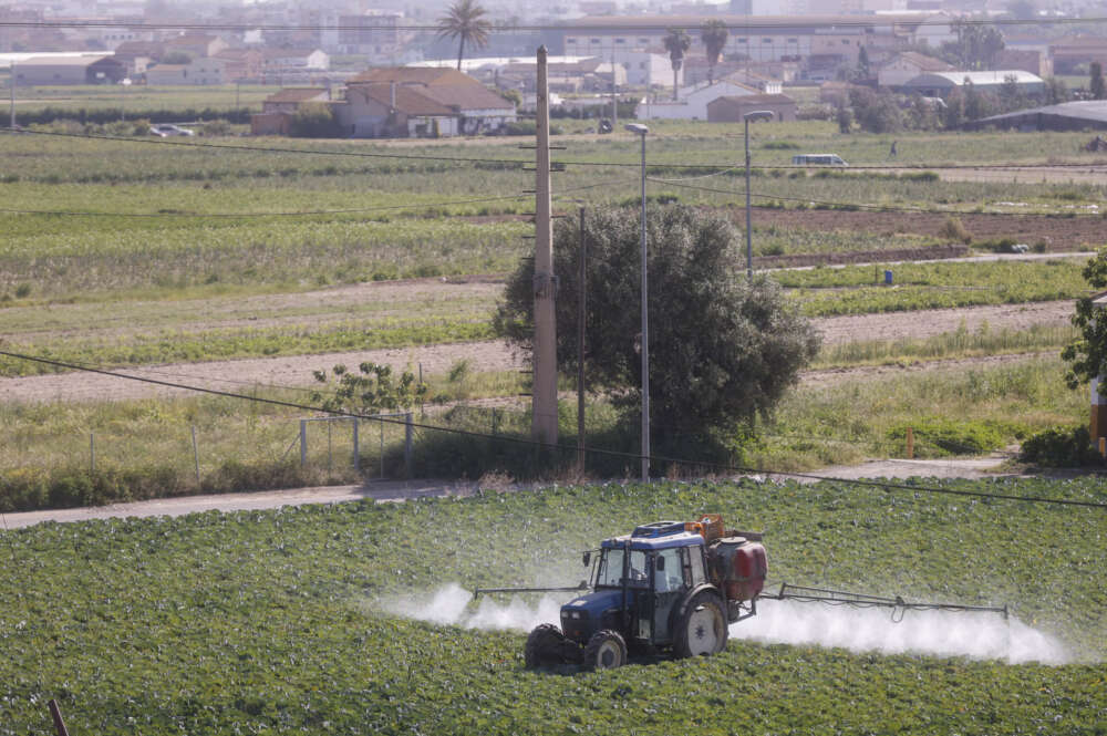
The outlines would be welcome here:
<svg viewBox="0 0 1107 736">
<path fill-rule="evenodd" d="M 353 137 L 477 135 L 517 118 L 515 104 L 453 69 L 390 68 L 346 82 L 334 106 Z"/>
</svg>

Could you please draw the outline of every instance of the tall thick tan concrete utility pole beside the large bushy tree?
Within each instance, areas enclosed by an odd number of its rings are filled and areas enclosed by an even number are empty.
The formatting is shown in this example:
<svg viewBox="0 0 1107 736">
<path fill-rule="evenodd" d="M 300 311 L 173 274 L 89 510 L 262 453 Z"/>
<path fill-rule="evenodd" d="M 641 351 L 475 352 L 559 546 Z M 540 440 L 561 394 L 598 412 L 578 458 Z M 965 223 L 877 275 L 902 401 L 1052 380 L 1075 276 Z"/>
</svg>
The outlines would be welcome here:
<svg viewBox="0 0 1107 736">
<path fill-rule="evenodd" d="M 557 443 L 557 331 L 554 320 L 554 230 L 550 226 L 550 105 L 546 46 L 538 49 L 535 187 L 535 381 L 530 436 Z"/>
</svg>

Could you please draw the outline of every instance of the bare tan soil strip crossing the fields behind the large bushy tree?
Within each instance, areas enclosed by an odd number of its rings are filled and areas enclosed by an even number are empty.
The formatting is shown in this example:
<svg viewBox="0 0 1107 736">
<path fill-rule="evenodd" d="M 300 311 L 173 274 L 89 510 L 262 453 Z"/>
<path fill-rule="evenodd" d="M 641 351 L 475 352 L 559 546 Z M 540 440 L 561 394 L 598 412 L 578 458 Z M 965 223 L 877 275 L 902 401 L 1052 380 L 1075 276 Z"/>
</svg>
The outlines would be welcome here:
<svg viewBox="0 0 1107 736">
<path fill-rule="evenodd" d="M 1031 325 L 1067 324 L 1073 302 L 1033 302 L 969 309 L 939 309 L 914 312 L 889 312 L 816 319 L 814 323 L 827 344 L 855 340 L 899 340 L 930 338 L 958 330 L 969 331 L 983 325 L 990 330 L 1025 330 Z M 356 365 L 361 362 L 384 363 L 403 370 L 422 365 L 424 374 L 445 373 L 459 360 L 470 361 L 474 371 L 521 369 L 519 356 L 499 341 L 422 345 L 348 353 L 294 355 L 283 357 L 182 363 L 118 372 L 157 381 L 184 383 L 217 391 L 247 392 L 255 386 L 310 386 L 312 371 L 329 369 L 338 363 Z M 984 362 L 987 359 L 971 359 Z M 949 363 L 949 361 L 945 361 Z M 941 363 L 941 362 L 939 362 Z M 915 364 L 915 370 L 927 363 Z M 935 365 L 938 365 L 935 363 Z M 896 369 L 884 369 L 893 371 Z M 858 369 L 863 371 L 863 369 Z M 846 380 L 849 371 L 818 372 L 820 382 Z M 828 377 L 829 376 L 829 377 Z M 834 376 L 837 376 L 835 379 Z M 20 379 L 0 379 L 0 402 L 99 402 L 125 401 L 158 395 L 182 395 L 186 392 L 166 386 L 127 381 L 95 373 L 61 373 Z"/>
</svg>

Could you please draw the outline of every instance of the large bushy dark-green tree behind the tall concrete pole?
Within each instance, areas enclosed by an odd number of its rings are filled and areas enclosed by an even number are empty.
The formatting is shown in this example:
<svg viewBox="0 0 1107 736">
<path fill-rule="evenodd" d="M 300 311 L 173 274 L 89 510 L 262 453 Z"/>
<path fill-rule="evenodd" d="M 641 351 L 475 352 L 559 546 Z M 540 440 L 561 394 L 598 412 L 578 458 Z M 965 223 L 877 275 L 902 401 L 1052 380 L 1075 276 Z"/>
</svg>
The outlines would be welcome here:
<svg viewBox="0 0 1107 736">
<path fill-rule="evenodd" d="M 586 217 L 588 312 L 584 367 L 628 419 L 641 402 L 641 215 L 637 208 Z M 646 218 L 650 406 L 655 438 L 726 433 L 765 414 L 816 353 L 819 338 L 772 280 L 746 279 L 741 237 L 730 220 L 690 207 L 655 207 Z M 576 221 L 555 229 L 557 354 L 576 371 L 578 258 Z M 529 354 L 534 336 L 534 262 L 508 280 L 495 324 Z"/>
</svg>

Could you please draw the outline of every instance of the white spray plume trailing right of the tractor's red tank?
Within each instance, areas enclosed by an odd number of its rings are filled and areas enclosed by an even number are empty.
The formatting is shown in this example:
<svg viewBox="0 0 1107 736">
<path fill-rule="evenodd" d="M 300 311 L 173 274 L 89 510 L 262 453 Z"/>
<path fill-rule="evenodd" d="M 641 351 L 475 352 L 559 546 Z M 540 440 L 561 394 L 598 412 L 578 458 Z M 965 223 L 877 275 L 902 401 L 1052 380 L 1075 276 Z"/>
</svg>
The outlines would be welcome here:
<svg viewBox="0 0 1107 736">
<path fill-rule="evenodd" d="M 1058 640 L 995 613 L 890 611 L 763 600 L 757 615 L 731 625 L 731 636 L 776 644 L 839 646 L 855 652 L 931 654 L 1066 664 L 1074 655 Z"/>
</svg>

